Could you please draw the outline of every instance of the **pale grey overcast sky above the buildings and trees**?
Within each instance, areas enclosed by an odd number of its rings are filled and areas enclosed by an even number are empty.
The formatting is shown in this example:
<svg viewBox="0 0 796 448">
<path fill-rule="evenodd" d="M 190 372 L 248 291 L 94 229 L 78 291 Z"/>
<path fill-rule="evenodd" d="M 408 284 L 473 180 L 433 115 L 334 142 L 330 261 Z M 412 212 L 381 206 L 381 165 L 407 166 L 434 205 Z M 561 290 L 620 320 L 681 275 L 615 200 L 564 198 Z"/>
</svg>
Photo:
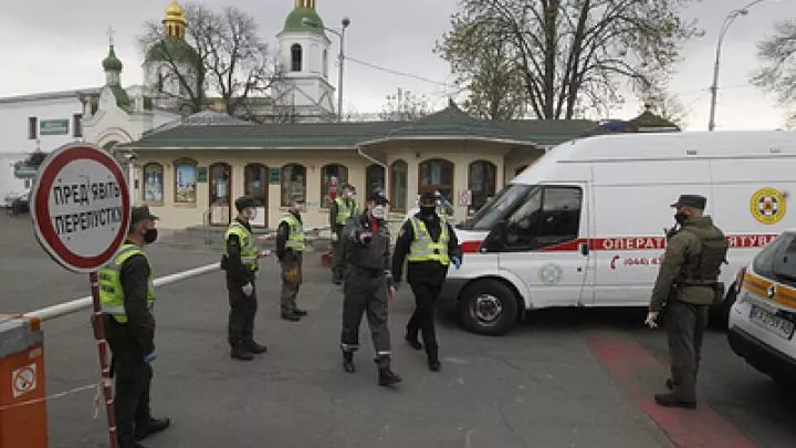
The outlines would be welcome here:
<svg viewBox="0 0 796 448">
<path fill-rule="evenodd" d="M 101 61 L 107 53 L 107 28 L 115 30 L 116 54 L 125 64 L 124 85 L 142 82 L 142 54 L 136 37 L 146 20 L 160 20 L 169 0 L 27 0 L 2 1 L 0 11 L 0 96 L 53 90 L 83 88 L 104 82 Z M 706 34 L 689 43 L 671 82 L 689 111 L 689 129 L 705 129 L 710 108 L 712 66 L 719 29 L 729 11 L 751 0 L 702 0 L 687 11 Z M 206 0 L 209 6 L 235 4 L 260 22 L 262 35 L 275 34 L 294 0 Z M 457 0 L 317 0 L 327 27 L 352 19 L 346 53 L 352 58 L 437 82 L 450 82 L 448 64 L 432 53 L 434 41 L 449 28 Z M 766 0 L 735 21 L 723 45 L 716 127 L 719 129 L 777 128 L 785 110 L 774 95 L 748 83 L 757 67 L 755 42 L 771 33 L 783 18 L 796 18 L 796 0 Z M 337 52 L 337 38 L 333 52 Z M 428 95 L 444 106 L 446 87 L 412 77 L 384 73 L 346 62 L 345 110 L 378 112 L 385 96 L 399 86 Z M 332 66 L 336 85 L 336 67 Z M 449 87 L 452 90 L 451 87 Z M 639 111 L 635 98 L 617 110 L 615 118 Z"/>
</svg>

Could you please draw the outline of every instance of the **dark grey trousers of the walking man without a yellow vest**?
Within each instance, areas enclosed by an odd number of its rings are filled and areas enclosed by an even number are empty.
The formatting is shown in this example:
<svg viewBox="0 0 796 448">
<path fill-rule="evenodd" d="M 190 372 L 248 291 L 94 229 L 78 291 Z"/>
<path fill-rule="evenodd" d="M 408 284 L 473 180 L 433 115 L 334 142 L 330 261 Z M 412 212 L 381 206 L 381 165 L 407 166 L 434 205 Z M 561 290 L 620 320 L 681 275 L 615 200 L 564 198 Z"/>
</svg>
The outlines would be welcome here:
<svg viewBox="0 0 796 448">
<path fill-rule="evenodd" d="M 387 327 L 387 278 L 381 271 L 377 274 L 352 267 L 346 272 L 343 288 L 343 332 L 341 346 L 346 352 L 359 348 L 359 324 L 363 314 L 367 314 L 370 337 L 377 361 L 388 360 L 390 334 Z"/>
</svg>

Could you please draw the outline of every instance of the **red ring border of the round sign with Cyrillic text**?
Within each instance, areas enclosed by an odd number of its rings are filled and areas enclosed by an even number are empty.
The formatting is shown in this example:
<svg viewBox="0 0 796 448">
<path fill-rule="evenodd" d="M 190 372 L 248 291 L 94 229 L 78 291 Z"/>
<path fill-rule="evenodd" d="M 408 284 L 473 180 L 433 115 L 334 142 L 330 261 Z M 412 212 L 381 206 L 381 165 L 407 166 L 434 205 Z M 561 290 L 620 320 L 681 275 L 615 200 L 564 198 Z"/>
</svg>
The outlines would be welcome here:
<svg viewBox="0 0 796 448">
<path fill-rule="evenodd" d="M 122 222 L 111 246 L 95 257 L 81 257 L 70 251 L 61 241 L 53 227 L 50 216 L 49 192 L 55 176 L 69 163 L 78 159 L 92 159 L 104 165 L 114 176 L 122 195 Z M 100 147 L 88 143 L 72 143 L 53 150 L 39 167 L 39 175 L 33 181 L 30 196 L 30 210 L 36 239 L 44 250 L 59 264 L 73 272 L 94 272 L 106 264 L 124 243 L 130 220 L 130 197 L 122 166 L 113 156 Z"/>
</svg>

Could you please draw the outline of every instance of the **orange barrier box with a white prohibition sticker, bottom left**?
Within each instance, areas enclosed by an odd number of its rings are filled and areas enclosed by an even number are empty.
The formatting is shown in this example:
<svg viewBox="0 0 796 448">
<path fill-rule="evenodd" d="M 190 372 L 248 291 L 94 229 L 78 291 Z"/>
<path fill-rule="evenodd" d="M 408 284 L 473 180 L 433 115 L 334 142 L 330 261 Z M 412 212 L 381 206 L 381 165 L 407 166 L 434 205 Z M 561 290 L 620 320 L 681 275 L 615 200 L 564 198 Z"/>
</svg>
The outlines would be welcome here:
<svg viewBox="0 0 796 448">
<path fill-rule="evenodd" d="M 43 342 L 39 320 L 0 314 L 0 447 L 48 446 Z"/>
</svg>

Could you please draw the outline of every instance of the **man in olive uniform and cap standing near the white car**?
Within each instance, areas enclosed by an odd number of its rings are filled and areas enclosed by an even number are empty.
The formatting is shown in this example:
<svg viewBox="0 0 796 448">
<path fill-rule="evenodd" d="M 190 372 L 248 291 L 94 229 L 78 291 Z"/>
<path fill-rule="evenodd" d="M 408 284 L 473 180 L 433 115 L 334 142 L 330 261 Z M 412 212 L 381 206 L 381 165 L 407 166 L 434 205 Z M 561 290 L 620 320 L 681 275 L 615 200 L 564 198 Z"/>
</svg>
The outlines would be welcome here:
<svg viewBox="0 0 796 448">
<path fill-rule="evenodd" d="M 672 205 L 680 230 L 669 232 L 645 321 L 656 327 L 656 320 L 667 303 L 672 376 L 667 381 L 671 393 L 654 396 L 661 406 L 696 407 L 696 374 L 709 308 L 724 295 L 719 275 L 729 244 L 713 220 L 703 216 L 706 202 L 703 196 L 682 195 Z"/>
</svg>

